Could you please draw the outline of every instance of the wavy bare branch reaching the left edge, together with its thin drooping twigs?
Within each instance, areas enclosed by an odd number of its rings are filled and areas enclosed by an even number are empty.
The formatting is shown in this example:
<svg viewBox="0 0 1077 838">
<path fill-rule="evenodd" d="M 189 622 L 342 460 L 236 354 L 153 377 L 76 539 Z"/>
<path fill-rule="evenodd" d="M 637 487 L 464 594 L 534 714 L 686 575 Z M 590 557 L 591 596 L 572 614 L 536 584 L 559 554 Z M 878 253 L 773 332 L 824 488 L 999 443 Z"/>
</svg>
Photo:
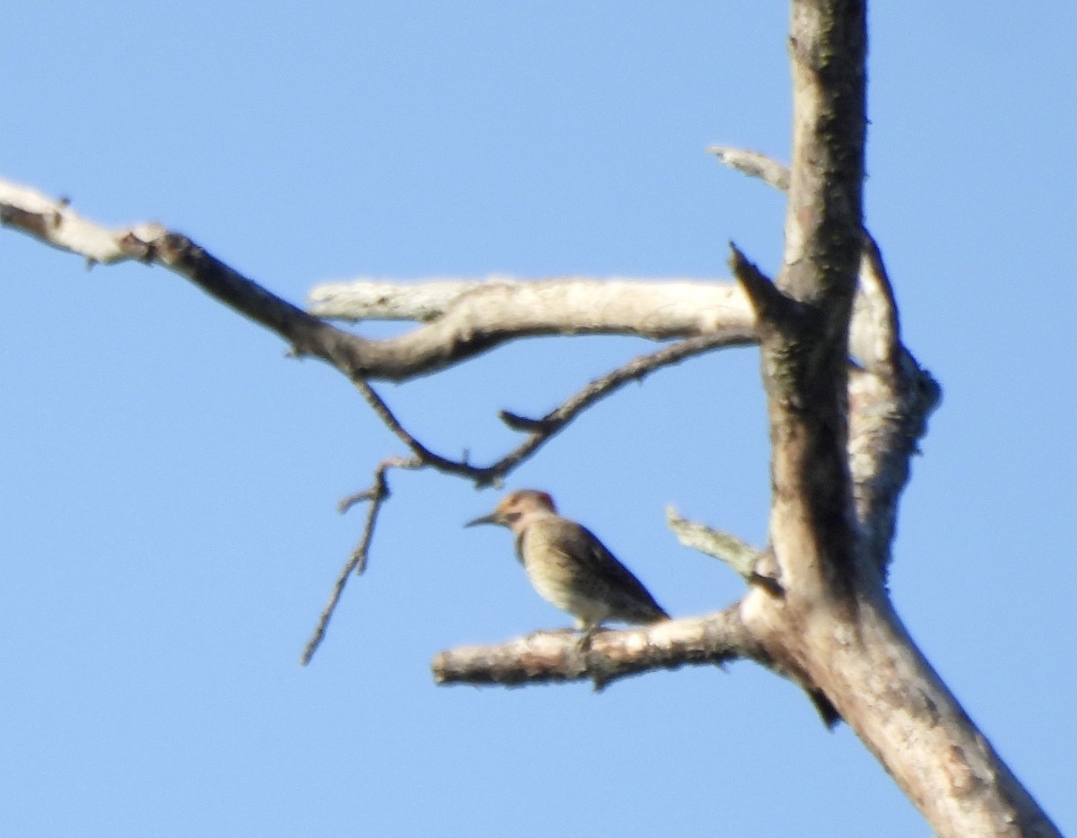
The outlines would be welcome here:
<svg viewBox="0 0 1077 838">
<path fill-rule="evenodd" d="M 635 288 L 626 291 L 629 283 L 623 283 L 624 288 L 619 291 L 625 293 L 621 294 L 617 289 L 614 289 L 614 296 L 630 297 L 632 305 L 637 307 L 634 310 L 630 310 L 631 305 L 624 305 L 625 299 L 614 299 L 607 296 L 605 308 L 606 313 L 611 313 L 612 318 L 603 321 L 593 316 L 596 309 L 587 305 L 585 299 L 582 310 L 590 313 L 586 315 L 584 319 L 573 321 L 571 317 L 564 316 L 564 311 L 558 318 L 556 311 L 551 315 L 547 309 L 543 316 L 547 318 L 546 325 L 537 325 L 542 317 L 532 321 L 528 321 L 528 318 L 523 317 L 522 322 L 505 326 L 498 309 L 496 298 L 507 296 L 514 305 L 522 304 L 530 311 L 534 311 L 535 299 L 554 298 L 560 301 L 561 305 L 568 305 L 569 309 L 567 310 L 571 313 L 573 306 L 581 305 L 578 289 L 567 288 L 562 283 L 547 283 L 545 285 L 536 283 L 537 287 L 487 284 L 482 289 L 464 289 L 463 292 L 454 296 L 450 294 L 450 302 L 442 304 L 440 308 L 437 306 L 423 308 L 420 294 L 418 309 L 412 305 L 409 310 L 412 313 L 418 310 L 419 318 L 423 320 L 437 317 L 437 323 L 430 327 L 416 330 L 410 335 L 401 338 L 382 341 L 364 340 L 296 308 L 243 277 L 186 237 L 171 233 L 159 224 L 143 224 L 111 231 L 85 221 L 67 206 L 66 200 L 52 200 L 33 190 L 5 181 L 0 181 L 0 221 L 54 247 L 80 253 L 92 262 L 114 263 L 137 259 L 146 263 L 160 264 L 185 276 L 207 293 L 281 335 L 294 347 L 296 354 L 318 357 L 337 367 L 355 383 L 390 430 L 412 450 L 415 457 L 410 460 L 395 459 L 381 463 L 375 472 L 374 486 L 360 495 L 349 499 L 345 504 L 345 507 L 348 507 L 360 500 L 369 502 L 366 527 L 360 545 L 338 577 L 316 631 L 307 644 L 303 654 L 305 665 L 309 662 L 325 636 L 328 621 L 344 592 L 349 575 L 353 570 L 356 573 L 362 573 L 365 568 L 377 515 L 389 492 L 386 484 L 387 469 L 429 465 L 444 472 L 470 477 L 479 485 L 493 483 L 537 450 L 587 406 L 615 391 L 627 381 L 641 379 L 654 369 L 676 363 L 693 354 L 719 346 L 739 345 L 752 340 L 751 317 L 744 317 L 745 309 L 737 301 L 739 295 L 735 289 L 722 285 L 689 287 L 685 283 L 680 283 L 681 292 L 682 295 L 690 299 L 690 303 L 686 306 L 683 299 L 679 302 L 675 293 L 672 296 L 660 293 L 657 302 L 658 311 L 652 311 L 654 317 L 644 312 L 642 319 L 639 319 L 639 306 L 647 293 L 653 293 L 653 289 L 648 291 Z M 674 284 L 676 283 L 665 283 L 663 291 L 668 292 Z M 449 290 L 454 291 L 456 289 Z M 430 292 L 431 289 L 428 288 L 425 291 Z M 445 292 L 444 283 L 440 291 L 437 289 L 433 291 L 436 293 Z M 610 289 L 601 283 L 591 283 L 590 291 L 597 291 L 599 296 L 602 296 L 603 293 L 607 294 Z M 711 306 L 722 309 L 722 311 L 708 313 L 705 305 L 701 306 L 699 303 L 701 295 L 707 298 Z M 475 305 L 460 306 L 459 299 L 461 297 L 468 298 Z M 494 302 L 491 302 L 491 297 L 494 298 Z M 655 301 L 651 299 L 648 304 L 654 307 Z M 451 312 L 444 308 L 446 305 L 452 308 Z M 541 422 L 534 423 L 524 443 L 486 469 L 477 469 L 466 462 L 440 457 L 423 446 L 404 429 L 366 380 L 368 376 L 406 378 L 431 372 L 433 368 L 439 368 L 482 351 L 496 343 L 528 334 L 540 334 L 544 330 L 563 334 L 624 329 L 630 333 L 666 336 L 676 334 L 677 329 L 685 327 L 683 325 L 656 325 L 663 317 L 662 307 L 666 308 L 667 312 L 676 309 L 682 321 L 689 323 L 687 326 L 689 332 L 703 330 L 709 333 L 674 347 L 666 347 L 652 355 L 635 359 L 610 375 L 592 381 L 560 408 L 545 417 Z M 614 311 L 614 309 L 617 310 Z M 509 310 L 512 310 L 512 305 L 509 305 Z M 478 322 L 481 320 L 480 315 L 484 311 L 489 318 L 486 332 L 484 332 L 481 322 Z M 689 312 L 694 319 L 685 320 L 686 312 Z M 728 316 L 730 312 L 731 317 Z M 633 317 L 638 318 L 635 325 L 627 322 Z M 617 318 L 627 320 L 617 324 Z M 611 325 L 611 323 L 615 324 Z M 640 325 L 641 323 L 642 325 Z M 717 331 L 708 330 L 707 326 L 712 323 L 718 323 L 722 327 Z M 509 415 L 506 414 L 507 416 Z M 517 427 L 522 421 L 517 422 Z"/>
</svg>

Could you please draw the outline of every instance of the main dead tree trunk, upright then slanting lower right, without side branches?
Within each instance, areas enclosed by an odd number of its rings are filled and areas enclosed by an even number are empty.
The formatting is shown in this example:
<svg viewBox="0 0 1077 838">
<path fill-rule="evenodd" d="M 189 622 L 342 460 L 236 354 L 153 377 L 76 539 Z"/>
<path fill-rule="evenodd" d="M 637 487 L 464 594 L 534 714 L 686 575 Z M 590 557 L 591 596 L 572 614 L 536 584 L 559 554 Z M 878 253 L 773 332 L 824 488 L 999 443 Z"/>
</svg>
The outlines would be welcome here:
<svg viewBox="0 0 1077 838">
<path fill-rule="evenodd" d="M 865 14 L 856 0 L 793 4 L 782 296 L 756 271 L 738 270 L 759 318 L 773 446 L 770 537 L 785 590 L 750 592 L 742 617 L 775 660 L 823 690 L 939 835 L 1053 835 L 890 607 L 885 558 L 872 550 L 892 535 L 892 512 L 864 494 L 854 501 L 847 350 L 864 251 Z M 908 371 L 894 331 L 877 369 L 889 366 L 883 377 L 899 380 Z M 865 395 L 869 388 L 857 385 Z M 862 523 L 873 537 L 861 537 Z"/>
</svg>

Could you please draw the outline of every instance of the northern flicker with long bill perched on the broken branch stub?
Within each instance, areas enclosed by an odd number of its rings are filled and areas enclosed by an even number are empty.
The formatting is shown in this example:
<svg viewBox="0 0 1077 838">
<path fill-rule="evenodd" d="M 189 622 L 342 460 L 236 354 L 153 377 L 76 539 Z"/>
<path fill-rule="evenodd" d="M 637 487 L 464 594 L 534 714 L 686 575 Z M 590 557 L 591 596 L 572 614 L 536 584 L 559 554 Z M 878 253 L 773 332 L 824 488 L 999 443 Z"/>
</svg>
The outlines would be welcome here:
<svg viewBox="0 0 1077 838">
<path fill-rule="evenodd" d="M 657 623 L 668 619 L 643 584 L 590 530 L 557 514 L 546 492 L 521 489 L 507 494 L 489 515 L 468 521 L 507 527 L 516 555 L 538 595 L 576 618 L 586 647 L 606 619 Z"/>
</svg>

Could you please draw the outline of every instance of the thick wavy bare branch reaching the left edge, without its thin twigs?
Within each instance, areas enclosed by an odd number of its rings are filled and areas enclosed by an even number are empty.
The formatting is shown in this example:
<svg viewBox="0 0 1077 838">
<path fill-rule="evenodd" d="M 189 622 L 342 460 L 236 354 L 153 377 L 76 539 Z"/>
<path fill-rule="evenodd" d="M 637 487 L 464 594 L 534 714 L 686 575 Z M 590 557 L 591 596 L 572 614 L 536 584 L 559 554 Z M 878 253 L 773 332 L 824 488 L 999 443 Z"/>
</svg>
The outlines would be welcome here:
<svg viewBox="0 0 1077 838">
<path fill-rule="evenodd" d="M 444 299 L 428 306 L 429 289 L 422 285 L 397 289 L 393 293 L 410 298 L 416 317 L 434 319 L 404 335 L 367 340 L 296 308 L 156 223 L 108 229 L 85 221 L 66 201 L 6 181 L 0 181 L 0 222 L 92 262 L 137 259 L 167 267 L 279 334 L 296 354 L 320 358 L 349 378 L 403 381 L 537 335 L 713 335 L 736 343 L 754 322 L 743 294 L 729 283 L 499 281 L 470 283 L 448 308 L 438 307 Z M 433 293 L 440 299 L 445 283 L 436 284 Z M 386 313 L 392 306 L 379 310 Z"/>
</svg>

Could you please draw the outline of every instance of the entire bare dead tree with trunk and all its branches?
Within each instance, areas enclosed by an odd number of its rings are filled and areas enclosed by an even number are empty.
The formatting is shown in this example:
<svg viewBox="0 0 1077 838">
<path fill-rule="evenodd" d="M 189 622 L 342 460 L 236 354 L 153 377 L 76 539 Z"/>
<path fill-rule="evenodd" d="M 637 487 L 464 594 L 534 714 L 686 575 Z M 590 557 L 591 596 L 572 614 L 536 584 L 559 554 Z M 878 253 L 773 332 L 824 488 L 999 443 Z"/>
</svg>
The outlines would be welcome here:
<svg viewBox="0 0 1077 838">
<path fill-rule="evenodd" d="M 910 640 L 885 588 L 909 460 L 939 389 L 901 345 L 890 281 L 862 220 L 865 4 L 794 0 L 789 36 L 792 165 L 715 149 L 724 163 L 787 192 L 785 250 L 771 282 L 735 249 L 728 283 L 435 280 L 326 285 L 314 313 L 293 306 L 159 224 L 110 231 L 54 200 L 0 181 L 0 222 L 90 262 L 165 266 L 272 330 L 297 354 L 349 377 L 412 457 L 376 470 L 363 541 L 338 579 L 313 652 L 349 573 L 362 567 L 386 472 L 434 467 L 476 483 L 500 479 L 568 421 L 624 381 L 721 346 L 758 340 L 767 390 L 773 484 L 770 544 L 753 550 L 676 519 L 682 537 L 737 567 L 744 598 L 708 617 L 603 631 L 582 651 L 567 632 L 464 647 L 434 660 L 438 683 L 514 685 L 618 678 L 747 658 L 789 678 L 828 715 L 837 708 L 940 836 L 1055 836 L 1058 830 L 998 759 Z M 412 331 L 370 340 L 337 319 L 408 319 Z M 368 379 L 405 380 L 500 344 L 546 334 L 684 338 L 591 382 L 545 417 L 508 411 L 528 434 L 489 466 L 431 451 L 410 435 Z M 850 358 L 857 364 L 852 365 Z M 711 537 L 713 535 L 713 537 Z"/>
</svg>

